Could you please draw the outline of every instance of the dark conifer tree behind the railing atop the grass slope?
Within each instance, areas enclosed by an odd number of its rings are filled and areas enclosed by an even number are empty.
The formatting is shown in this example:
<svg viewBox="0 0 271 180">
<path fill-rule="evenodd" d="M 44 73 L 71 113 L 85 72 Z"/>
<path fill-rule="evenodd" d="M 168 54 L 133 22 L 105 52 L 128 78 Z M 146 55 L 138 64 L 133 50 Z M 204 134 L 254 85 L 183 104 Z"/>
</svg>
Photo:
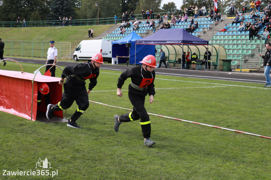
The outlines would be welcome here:
<svg viewBox="0 0 271 180">
<path fill-rule="evenodd" d="M 71 0 L 53 0 L 50 6 L 50 14 L 47 20 L 58 20 L 58 17 L 74 16 L 75 1 Z"/>
</svg>

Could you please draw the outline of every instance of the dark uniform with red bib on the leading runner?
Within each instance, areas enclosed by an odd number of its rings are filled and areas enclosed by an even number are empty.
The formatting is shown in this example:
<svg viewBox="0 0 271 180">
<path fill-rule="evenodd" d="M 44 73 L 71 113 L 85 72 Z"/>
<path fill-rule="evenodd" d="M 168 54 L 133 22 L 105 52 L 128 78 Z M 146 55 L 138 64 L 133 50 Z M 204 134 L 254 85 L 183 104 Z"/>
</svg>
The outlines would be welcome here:
<svg viewBox="0 0 271 180">
<path fill-rule="evenodd" d="M 122 114 L 119 119 L 120 122 L 131 122 L 140 119 L 141 129 L 144 138 L 149 138 L 151 134 L 150 118 L 144 107 L 145 96 L 147 94 L 153 95 L 154 91 L 154 78 L 155 72 L 151 73 L 144 71 L 142 66 L 136 66 L 122 72 L 118 79 L 118 88 L 121 89 L 124 81 L 131 78 L 131 84 L 128 88 L 128 96 L 132 103 L 133 112 Z"/>
</svg>

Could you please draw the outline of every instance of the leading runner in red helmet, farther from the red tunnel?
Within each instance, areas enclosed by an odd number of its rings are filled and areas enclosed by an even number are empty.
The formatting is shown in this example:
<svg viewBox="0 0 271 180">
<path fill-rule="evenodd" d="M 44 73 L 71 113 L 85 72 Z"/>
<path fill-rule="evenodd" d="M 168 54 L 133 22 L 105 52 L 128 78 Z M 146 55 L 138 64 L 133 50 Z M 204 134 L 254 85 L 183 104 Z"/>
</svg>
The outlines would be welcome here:
<svg viewBox="0 0 271 180">
<path fill-rule="evenodd" d="M 121 116 L 114 116 L 114 129 L 117 132 L 122 122 L 131 122 L 140 119 L 142 134 L 144 137 L 144 145 L 151 146 L 154 145 L 155 142 L 150 139 L 151 122 L 150 117 L 144 107 L 144 102 L 147 94 L 150 95 L 149 102 L 153 102 L 153 96 L 155 94 L 153 83 L 155 72 L 153 69 L 156 68 L 156 60 L 153 55 L 147 55 L 142 61 L 140 61 L 140 63 L 143 65 L 127 69 L 126 71 L 122 72 L 120 78 L 118 79 L 117 95 L 121 97 L 121 88 L 124 81 L 131 78 L 132 82 L 128 88 L 128 97 L 134 107 L 133 112 L 122 114 Z"/>
</svg>

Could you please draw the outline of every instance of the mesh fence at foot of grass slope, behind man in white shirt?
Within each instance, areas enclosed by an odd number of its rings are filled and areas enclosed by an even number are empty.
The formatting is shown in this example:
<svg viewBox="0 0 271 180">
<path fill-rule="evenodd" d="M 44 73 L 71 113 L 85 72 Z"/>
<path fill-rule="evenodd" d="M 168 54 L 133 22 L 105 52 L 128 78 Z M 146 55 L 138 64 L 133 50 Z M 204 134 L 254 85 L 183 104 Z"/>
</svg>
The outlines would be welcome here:
<svg viewBox="0 0 271 180">
<path fill-rule="evenodd" d="M 5 56 L 25 56 L 46 58 L 48 42 L 5 41 Z M 70 42 L 55 42 L 58 51 L 57 58 L 71 58 Z"/>
</svg>

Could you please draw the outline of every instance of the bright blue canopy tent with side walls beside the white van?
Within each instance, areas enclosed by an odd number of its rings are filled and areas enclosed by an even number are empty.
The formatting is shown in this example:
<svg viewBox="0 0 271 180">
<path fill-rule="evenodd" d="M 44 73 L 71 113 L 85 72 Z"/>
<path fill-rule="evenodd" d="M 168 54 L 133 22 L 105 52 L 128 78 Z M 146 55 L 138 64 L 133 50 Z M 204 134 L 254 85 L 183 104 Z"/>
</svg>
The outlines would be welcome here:
<svg viewBox="0 0 271 180">
<path fill-rule="evenodd" d="M 155 56 L 155 46 L 154 45 L 135 45 L 135 40 L 142 39 L 138 36 L 134 31 L 131 32 L 128 36 L 119 39 L 117 41 L 112 41 L 112 57 L 117 56 L 129 56 L 130 50 L 130 63 L 131 64 L 141 64 L 139 61 L 147 55 L 154 55 Z M 126 43 L 131 43 L 130 49 L 126 47 Z M 137 51 L 135 52 L 135 46 Z M 118 63 L 124 64 L 127 62 L 127 59 L 119 58 Z"/>
</svg>

